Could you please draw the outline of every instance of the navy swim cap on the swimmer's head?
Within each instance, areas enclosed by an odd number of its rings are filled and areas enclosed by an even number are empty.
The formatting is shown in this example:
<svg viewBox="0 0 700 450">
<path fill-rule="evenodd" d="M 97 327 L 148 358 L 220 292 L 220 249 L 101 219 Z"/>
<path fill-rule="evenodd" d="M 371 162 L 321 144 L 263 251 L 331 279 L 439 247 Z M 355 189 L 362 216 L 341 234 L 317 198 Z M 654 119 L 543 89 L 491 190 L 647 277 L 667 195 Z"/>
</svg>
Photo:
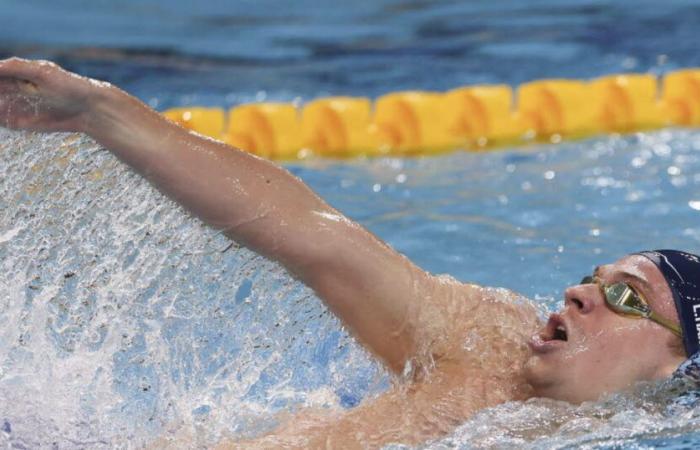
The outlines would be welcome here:
<svg viewBox="0 0 700 450">
<path fill-rule="evenodd" d="M 673 293 L 673 301 L 683 330 L 686 356 L 700 350 L 700 256 L 678 250 L 636 253 L 659 268 Z"/>
</svg>

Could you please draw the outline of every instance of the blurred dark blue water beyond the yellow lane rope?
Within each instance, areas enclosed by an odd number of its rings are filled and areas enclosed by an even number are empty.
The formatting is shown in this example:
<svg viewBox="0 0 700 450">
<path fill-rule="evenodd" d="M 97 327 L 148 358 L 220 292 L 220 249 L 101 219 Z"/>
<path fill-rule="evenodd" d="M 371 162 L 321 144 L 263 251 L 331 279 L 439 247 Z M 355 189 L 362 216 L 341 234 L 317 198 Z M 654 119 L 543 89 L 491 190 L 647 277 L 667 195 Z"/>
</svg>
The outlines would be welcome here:
<svg viewBox="0 0 700 450">
<path fill-rule="evenodd" d="M 53 59 L 158 108 L 700 65 L 700 3 L 692 0 L 0 5 L 0 57 Z"/>
</svg>

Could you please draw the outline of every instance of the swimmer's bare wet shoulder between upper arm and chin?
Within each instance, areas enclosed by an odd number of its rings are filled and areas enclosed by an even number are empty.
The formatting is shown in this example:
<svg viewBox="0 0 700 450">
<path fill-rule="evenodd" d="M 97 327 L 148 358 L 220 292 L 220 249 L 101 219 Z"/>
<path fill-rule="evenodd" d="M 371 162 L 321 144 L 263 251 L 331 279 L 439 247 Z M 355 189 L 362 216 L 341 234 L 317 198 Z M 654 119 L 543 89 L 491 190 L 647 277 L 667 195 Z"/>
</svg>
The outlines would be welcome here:
<svg viewBox="0 0 700 450">
<path fill-rule="evenodd" d="M 526 297 L 504 288 L 462 283 L 436 276 L 424 320 L 441 330 L 434 355 L 458 360 L 489 373 L 511 372 L 529 356 L 527 341 L 541 326 L 538 308 Z M 439 333 L 439 331 L 442 331 Z"/>
</svg>

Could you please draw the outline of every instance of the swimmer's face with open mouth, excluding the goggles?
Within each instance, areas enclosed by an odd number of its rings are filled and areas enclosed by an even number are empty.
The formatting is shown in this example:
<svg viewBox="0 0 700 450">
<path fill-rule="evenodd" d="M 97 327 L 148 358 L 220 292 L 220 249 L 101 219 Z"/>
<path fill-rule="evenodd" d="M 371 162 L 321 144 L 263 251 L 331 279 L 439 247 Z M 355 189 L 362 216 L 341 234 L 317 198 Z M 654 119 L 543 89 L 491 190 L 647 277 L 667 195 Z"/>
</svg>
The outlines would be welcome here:
<svg viewBox="0 0 700 450">
<path fill-rule="evenodd" d="M 678 323 L 671 290 L 647 258 L 627 256 L 600 266 L 596 275 L 605 285 L 626 282 L 652 310 Z M 613 312 L 597 284 L 571 286 L 564 308 L 533 337 L 526 376 L 538 396 L 595 400 L 637 381 L 670 376 L 684 360 L 669 347 L 673 339 L 651 320 Z"/>
</svg>

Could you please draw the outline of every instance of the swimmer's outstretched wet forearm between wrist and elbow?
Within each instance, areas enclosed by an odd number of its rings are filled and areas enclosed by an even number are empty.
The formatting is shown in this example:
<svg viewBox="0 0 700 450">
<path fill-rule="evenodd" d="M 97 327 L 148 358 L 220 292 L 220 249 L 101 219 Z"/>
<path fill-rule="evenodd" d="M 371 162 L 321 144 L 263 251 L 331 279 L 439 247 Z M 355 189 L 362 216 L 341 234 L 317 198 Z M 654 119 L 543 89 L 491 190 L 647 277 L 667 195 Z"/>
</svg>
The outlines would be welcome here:
<svg viewBox="0 0 700 450">
<path fill-rule="evenodd" d="M 190 133 L 115 88 L 94 102 L 85 131 L 195 216 L 293 271 L 302 261 L 292 241 L 334 213 L 285 169 Z"/>
</svg>

